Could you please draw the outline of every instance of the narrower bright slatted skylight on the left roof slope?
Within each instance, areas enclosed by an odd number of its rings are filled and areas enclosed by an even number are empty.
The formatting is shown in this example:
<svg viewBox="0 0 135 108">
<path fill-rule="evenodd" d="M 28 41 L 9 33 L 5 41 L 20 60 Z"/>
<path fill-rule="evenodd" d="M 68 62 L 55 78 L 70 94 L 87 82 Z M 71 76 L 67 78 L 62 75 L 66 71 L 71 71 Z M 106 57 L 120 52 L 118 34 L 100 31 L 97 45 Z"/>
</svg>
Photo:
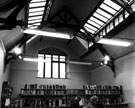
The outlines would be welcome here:
<svg viewBox="0 0 135 108">
<path fill-rule="evenodd" d="M 42 20 L 48 16 L 52 0 L 32 0 L 29 4 L 28 10 L 28 28 L 37 28 Z M 45 10 L 46 9 L 46 10 Z M 46 15 L 47 14 L 47 15 Z"/>
</svg>

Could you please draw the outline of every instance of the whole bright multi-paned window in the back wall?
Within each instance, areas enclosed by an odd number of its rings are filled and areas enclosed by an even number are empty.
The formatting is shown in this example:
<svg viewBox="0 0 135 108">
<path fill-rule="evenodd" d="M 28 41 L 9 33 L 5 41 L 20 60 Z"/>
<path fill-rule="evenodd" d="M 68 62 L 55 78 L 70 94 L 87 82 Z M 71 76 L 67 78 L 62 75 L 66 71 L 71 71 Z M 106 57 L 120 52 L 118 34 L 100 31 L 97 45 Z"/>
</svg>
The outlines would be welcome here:
<svg viewBox="0 0 135 108">
<path fill-rule="evenodd" d="M 38 77 L 66 78 L 66 57 L 38 54 Z"/>
</svg>

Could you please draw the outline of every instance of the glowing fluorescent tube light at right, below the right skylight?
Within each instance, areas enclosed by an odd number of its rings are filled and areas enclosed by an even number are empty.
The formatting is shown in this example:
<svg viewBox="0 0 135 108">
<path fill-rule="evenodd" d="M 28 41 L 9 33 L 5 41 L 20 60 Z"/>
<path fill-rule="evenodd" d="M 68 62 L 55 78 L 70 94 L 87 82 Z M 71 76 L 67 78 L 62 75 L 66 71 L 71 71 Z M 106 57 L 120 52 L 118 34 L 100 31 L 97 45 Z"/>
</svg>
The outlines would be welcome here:
<svg viewBox="0 0 135 108">
<path fill-rule="evenodd" d="M 120 40 L 120 39 L 108 39 L 108 38 L 100 38 L 97 43 L 115 45 L 115 46 L 123 46 L 128 47 L 133 45 L 131 41 Z"/>
</svg>

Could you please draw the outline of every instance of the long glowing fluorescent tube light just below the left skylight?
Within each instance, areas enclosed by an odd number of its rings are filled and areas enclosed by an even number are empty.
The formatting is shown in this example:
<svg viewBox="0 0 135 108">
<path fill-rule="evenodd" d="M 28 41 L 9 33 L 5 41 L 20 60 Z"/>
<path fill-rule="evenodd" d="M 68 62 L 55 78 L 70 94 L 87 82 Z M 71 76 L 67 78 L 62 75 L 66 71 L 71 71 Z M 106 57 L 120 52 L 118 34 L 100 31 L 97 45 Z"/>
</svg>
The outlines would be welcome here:
<svg viewBox="0 0 135 108">
<path fill-rule="evenodd" d="M 49 31 L 43 31 L 37 29 L 25 29 L 23 32 L 27 34 L 35 34 L 35 35 L 42 35 L 42 36 L 56 37 L 56 38 L 63 38 L 63 39 L 73 38 L 73 36 L 69 34 L 59 33 L 59 32 L 49 32 Z"/>
</svg>

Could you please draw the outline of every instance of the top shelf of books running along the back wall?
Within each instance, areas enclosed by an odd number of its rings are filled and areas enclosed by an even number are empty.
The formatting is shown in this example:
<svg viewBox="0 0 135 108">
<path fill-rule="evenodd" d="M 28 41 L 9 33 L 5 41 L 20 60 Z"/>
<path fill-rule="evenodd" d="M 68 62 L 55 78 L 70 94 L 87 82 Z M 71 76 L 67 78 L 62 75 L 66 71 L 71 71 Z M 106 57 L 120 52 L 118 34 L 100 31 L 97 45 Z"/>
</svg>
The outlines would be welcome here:
<svg viewBox="0 0 135 108">
<path fill-rule="evenodd" d="M 122 86 L 84 85 L 82 89 L 67 89 L 66 85 L 25 84 L 20 93 L 24 95 L 121 95 Z"/>
</svg>

